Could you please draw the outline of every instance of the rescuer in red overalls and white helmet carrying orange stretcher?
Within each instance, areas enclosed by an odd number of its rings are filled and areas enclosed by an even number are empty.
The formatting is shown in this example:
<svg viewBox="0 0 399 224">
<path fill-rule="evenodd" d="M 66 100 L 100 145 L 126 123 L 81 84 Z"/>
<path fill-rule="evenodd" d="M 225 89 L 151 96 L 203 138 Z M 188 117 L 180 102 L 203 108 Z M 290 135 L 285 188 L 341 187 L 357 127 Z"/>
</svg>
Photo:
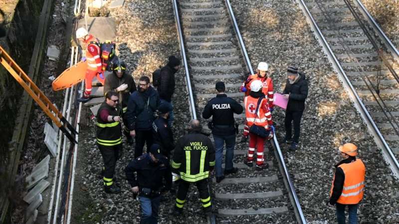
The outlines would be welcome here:
<svg viewBox="0 0 399 224">
<path fill-rule="evenodd" d="M 101 44 L 96 37 L 89 34 L 83 27 L 76 30 L 76 38 L 86 45 L 86 54 L 85 57 L 82 58 L 82 61 L 87 61 L 85 90 L 83 97 L 78 98 L 77 101 L 87 102 L 90 100 L 91 83 L 94 77 L 97 77 L 97 80 L 104 85 L 105 77 L 101 64 Z"/>
</svg>

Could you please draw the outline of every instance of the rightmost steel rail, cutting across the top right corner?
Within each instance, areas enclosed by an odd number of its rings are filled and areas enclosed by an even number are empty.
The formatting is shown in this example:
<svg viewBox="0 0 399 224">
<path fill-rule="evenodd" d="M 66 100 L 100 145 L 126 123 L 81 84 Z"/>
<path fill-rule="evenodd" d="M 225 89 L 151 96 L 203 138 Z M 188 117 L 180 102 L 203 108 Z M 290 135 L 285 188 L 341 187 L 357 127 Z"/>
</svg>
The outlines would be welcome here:
<svg viewBox="0 0 399 224">
<path fill-rule="evenodd" d="M 366 7 L 363 5 L 363 3 L 360 0 L 355 0 L 355 3 L 358 5 L 358 8 L 359 8 L 360 12 L 362 12 L 362 14 L 365 16 L 365 18 L 369 21 L 369 23 L 373 27 L 373 29 L 376 31 L 376 33 L 383 40 L 383 42 L 385 43 L 385 46 L 391 52 L 392 56 L 399 63 L 399 51 L 398 51 L 398 49 L 391 42 L 391 40 L 387 37 L 387 35 L 385 35 L 384 31 L 377 24 L 377 22 L 375 21 L 373 16 L 370 15 L 369 11 L 366 9 Z"/>
</svg>

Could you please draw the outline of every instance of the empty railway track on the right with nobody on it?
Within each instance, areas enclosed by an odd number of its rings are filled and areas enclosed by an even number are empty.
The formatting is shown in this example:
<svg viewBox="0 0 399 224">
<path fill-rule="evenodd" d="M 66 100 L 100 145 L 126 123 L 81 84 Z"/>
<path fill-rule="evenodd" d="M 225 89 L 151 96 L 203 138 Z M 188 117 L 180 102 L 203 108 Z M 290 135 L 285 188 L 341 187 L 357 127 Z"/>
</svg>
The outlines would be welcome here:
<svg viewBox="0 0 399 224">
<path fill-rule="evenodd" d="M 359 0 L 299 3 L 398 177 L 398 50 Z"/>
</svg>

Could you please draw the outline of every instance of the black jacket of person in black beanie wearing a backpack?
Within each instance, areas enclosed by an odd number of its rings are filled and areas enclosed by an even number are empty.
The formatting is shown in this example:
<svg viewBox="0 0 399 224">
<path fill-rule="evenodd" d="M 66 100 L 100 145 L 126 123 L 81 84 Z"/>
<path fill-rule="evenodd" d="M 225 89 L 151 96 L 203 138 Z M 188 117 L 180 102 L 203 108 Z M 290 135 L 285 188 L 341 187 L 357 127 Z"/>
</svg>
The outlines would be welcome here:
<svg viewBox="0 0 399 224">
<path fill-rule="evenodd" d="M 168 102 L 172 101 L 172 95 L 175 93 L 175 73 L 178 70 L 166 65 L 161 69 L 161 84 L 157 88 L 159 97 Z"/>
</svg>

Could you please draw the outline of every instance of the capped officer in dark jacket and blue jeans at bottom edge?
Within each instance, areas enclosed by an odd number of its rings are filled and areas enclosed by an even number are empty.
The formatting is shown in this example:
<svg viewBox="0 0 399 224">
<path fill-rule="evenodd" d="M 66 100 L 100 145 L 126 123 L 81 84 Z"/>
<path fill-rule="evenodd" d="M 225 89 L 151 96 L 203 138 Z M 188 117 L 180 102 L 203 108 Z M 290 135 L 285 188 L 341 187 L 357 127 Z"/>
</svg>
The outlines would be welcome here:
<svg viewBox="0 0 399 224">
<path fill-rule="evenodd" d="M 125 169 L 133 193 L 139 195 L 141 224 L 158 223 L 162 178 L 169 166 L 168 158 L 161 154 L 160 145 L 153 144 L 148 153 L 132 160 Z M 137 178 L 134 172 L 137 172 Z"/>
</svg>

